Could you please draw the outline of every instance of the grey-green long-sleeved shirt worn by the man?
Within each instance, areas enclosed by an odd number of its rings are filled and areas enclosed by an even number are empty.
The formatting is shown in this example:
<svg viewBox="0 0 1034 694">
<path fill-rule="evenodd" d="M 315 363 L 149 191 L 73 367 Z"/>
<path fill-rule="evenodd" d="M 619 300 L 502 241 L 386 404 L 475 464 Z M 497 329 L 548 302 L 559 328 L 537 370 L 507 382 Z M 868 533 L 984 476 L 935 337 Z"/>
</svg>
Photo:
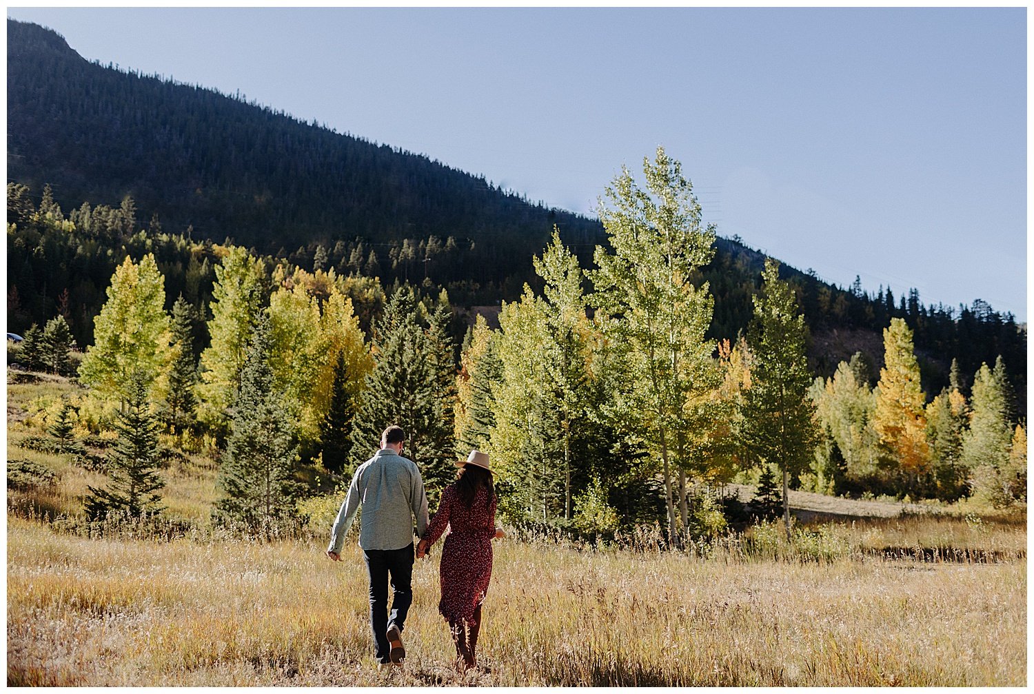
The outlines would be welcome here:
<svg viewBox="0 0 1034 694">
<path fill-rule="evenodd" d="M 423 536 L 427 530 L 427 494 L 420 470 L 413 460 L 390 448 L 377 451 L 356 471 L 331 530 L 327 551 L 341 553 L 344 536 L 360 505 L 363 519 L 359 546 L 363 549 L 401 549 L 410 544 L 414 517 L 417 535 Z"/>
</svg>

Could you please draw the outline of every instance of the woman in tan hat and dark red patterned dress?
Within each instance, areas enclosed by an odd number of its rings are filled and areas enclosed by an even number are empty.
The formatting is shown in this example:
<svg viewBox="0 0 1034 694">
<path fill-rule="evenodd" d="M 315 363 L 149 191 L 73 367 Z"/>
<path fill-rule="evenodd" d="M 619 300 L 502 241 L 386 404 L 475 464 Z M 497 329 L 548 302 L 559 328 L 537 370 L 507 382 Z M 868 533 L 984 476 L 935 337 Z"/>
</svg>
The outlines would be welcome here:
<svg viewBox="0 0 1034 694">
<path fill-rule="evenodd" d="M 442 492 L 438 510 L 417 545 L 417 559 L 427 553 L 448 525 L 438 567 L 438 611 L 449 622 L 457 667 L 463 671 L 477 664 L 481 603 L 492 577 L 492 539 L 504 535 L 495 527 L 495 488 L 488 456 L 470 451 L 465 462 L 456 464 L 460 466 L 456 481 Z"/>
</svg>

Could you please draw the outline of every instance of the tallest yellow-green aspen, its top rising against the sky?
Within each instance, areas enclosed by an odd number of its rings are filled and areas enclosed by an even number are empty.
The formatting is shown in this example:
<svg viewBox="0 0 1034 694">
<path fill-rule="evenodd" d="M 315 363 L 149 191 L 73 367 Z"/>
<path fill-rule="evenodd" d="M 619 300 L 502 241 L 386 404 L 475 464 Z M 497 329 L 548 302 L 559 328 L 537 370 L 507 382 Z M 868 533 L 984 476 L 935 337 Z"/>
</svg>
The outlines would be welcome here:
<svg viewBox="0 0 1034 694">
<path fill-rule="evenodd" d="M 702 227 L 693 187 L 664 148 L 653 163 L 644 159 L 643 171 L 645 190 L 627 169 L 606 189 L 611 207 L 601 203 L 599 212 L 613 253 L 597 247 L 589 301 L 612 343 L 624 350 L 630 378 L 617 406 L 638 420 L 661 462 L 674 542 L 671 449 L 688 425 L 687 398 L 710 385 L 700 375 L 709 370 L 713 352 L 704 338 L 713 300 L 707 282 L 696 288 L 691 276 L 713 258 L 716 232 Z"/>
</svg>

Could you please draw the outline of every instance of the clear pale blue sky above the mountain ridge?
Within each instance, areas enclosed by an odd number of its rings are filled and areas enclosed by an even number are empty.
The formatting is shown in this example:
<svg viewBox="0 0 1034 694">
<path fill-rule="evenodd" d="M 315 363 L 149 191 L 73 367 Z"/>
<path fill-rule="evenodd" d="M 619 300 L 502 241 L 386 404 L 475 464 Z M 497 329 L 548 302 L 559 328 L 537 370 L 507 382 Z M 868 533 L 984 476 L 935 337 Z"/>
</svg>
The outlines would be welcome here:
<svg viewBox="0 0 1034 694">
<path fill-rule="evenodd" d="M 85 58 L 591 213 L 682 162 L 719 234 L 1027 314 L 1027 10 L 13 8 Z"/>
</svg>

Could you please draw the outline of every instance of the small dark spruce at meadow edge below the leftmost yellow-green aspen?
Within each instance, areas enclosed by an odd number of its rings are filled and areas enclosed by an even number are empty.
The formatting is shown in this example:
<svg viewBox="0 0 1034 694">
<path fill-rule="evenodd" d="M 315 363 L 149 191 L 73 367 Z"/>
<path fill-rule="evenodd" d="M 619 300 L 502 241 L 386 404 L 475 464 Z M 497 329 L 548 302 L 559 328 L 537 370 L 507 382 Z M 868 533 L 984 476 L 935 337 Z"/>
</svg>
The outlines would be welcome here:
<svg viewBox="0 0 1034 694">
<path fill-rule="evenodd" d="M 87 487 L 86 514 L 100 520 L 109 512 L 139 517 L 161 511 L 158 491 L 164 482 L 158 475 L 158 424 L 150 412 L 145 373 L 130 374 L 126 406 L 118 413 L 118 443 L 108 458 L 111 478 L 107 489 Z"/>
</svg>

